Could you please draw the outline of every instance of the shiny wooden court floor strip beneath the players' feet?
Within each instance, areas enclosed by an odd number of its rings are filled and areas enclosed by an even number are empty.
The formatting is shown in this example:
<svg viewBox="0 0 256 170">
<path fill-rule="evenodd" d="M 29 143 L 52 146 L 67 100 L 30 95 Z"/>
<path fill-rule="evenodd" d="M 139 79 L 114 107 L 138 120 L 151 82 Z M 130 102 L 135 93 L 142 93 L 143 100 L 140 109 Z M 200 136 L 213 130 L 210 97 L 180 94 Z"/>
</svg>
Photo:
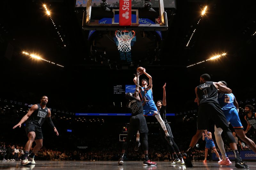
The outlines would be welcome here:
<svg viewBox="0 0 256 170">
<path fill-rule="evenodd" d="M 220 166 L 216 161 L 213 162 L 199 162 L 193 161 L 193 168 L 186 168 L 185 165 L 175 164 L 171 162 L 156 161 L 156 166 L 143 166 L 142 161 L 125 161 L 123 166 L 118 166 L 117 161 L 36 161 L 36 165 L 20 166 L 20 161 L 1 161 L 0 169 L 10 170 L 29 170 L 29 169 L 56 169 L 56 170 L 71 170 L 71 169 L 90 169 L 90 170 L 154 170 L 154 169 L 194 169 L 194 170 L 235 170 L 234 164 L 231 166 Z M 247 162 L 249 169 L 256 169 L 256 162 Z"/>
</svg>

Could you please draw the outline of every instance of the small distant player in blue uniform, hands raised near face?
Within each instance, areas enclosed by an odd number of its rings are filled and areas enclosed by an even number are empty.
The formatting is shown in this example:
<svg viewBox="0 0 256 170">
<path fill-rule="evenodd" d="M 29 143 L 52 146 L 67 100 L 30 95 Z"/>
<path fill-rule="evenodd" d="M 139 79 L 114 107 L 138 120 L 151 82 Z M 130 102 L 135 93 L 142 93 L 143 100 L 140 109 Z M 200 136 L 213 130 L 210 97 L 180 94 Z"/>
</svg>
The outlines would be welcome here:
<svg viewBox="0 0 256 170">
<path fill-rule="evenodd" d="M 205 140 L 205 142 L 206 142 L 203 162 L 207 162 L 208 150 L 211 150 L 211 149 L 213 149 L 213 151 L 216 153 L 216 156 L 219 158 L 219 160 L 221 160 L 220 155 L 219 155 L 219 153 L 217 152 L 217 150 L 215 148 L 214 141 L 212 140 L 212 133 L 208 132 L 207 129 L 205 129 L 204 132 L 203 132 L 203 138 L 202 139 Z"/>
</svg>

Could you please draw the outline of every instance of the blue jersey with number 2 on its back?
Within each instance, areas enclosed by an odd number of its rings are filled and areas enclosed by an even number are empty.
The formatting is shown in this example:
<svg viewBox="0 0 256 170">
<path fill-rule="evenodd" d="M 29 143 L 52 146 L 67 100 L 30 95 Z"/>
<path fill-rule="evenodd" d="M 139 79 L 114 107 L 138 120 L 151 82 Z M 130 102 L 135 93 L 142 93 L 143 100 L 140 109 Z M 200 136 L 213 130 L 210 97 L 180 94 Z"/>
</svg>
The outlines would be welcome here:
<svg viewBox="0 0 256 170">
<path fill-rule="evenodd" d="M 235 96 L 233 93 L 230 93 L 230 94 L 219 93 L 218 94 L 218 101 L 219 101 L 219 104 L 220 104 L 220 107 L 222 110 L 236 108 L 234 105 L 234 100 L 235 100 Z"/>
</svg>

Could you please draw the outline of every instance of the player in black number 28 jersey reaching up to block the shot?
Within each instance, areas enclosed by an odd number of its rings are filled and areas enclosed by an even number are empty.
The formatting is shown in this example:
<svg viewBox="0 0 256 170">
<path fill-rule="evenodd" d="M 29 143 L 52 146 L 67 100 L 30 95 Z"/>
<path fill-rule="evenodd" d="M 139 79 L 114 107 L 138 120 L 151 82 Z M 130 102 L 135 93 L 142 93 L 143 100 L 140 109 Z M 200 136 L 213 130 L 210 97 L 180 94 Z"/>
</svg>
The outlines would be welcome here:
<svg viewBox="0 0 256 170">
<path fill-rule="evenodd" d="M 148 126 L 145 117 L 143 116 L 143 107 L 139 97 L 139 76 L 140 71 L 137 71 L 137 83 L 136 83 L 136 90 L 134 94 L 127 93 L 125 94 L 125 98 L 128 101 L 127 107 L 132 112 L 132 117 L 130 118 L 130 124 L 128 127 L 128 134 L 123 143 L 123 150 L 121 153 L 121 157 L 118 161 L 118 165 L 123 165 L 124 163 L 124 153 L 127 149 L 127 145 L 132 139 L 132 137 L 137 133 L 139 130 L 140 138 L 142 140 L 142 149 L 144 150 L 144 161 L 143 165 L 156 165 L 156 162 L 151 162 L 148 158 Z"/>
</svg>

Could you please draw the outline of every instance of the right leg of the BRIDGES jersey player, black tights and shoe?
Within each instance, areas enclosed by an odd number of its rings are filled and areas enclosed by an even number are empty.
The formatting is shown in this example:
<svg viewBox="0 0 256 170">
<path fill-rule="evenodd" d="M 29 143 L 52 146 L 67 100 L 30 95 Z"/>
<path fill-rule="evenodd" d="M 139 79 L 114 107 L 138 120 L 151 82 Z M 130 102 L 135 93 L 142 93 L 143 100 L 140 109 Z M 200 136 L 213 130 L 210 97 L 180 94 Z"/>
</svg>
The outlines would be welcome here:
<svg viewBox="0 0 256 170">
<path fill-rule="evenodd" d="M 221 128 L 223 130 L 223 133 L 226 135 L 228 144 L 230 148 L 233 150 L 235 155 L 235 162 L 237 168 L 248 168 L 248 166 L 242 161 L 240 158 L 240 155 L 238 153 L 237 147 L 236 147 L 236 141 L 235 138 L 232 135 L 231 130 L 228 127 L 228 122 L 226 120 L 226 117 L 222 110 L 220 109 L 220 106 L 214 103 L 209 103 L 212 106 L 212 114 L 211 118 L 215 122 L 215 125 L 217 128 Z"/>
</svg>

